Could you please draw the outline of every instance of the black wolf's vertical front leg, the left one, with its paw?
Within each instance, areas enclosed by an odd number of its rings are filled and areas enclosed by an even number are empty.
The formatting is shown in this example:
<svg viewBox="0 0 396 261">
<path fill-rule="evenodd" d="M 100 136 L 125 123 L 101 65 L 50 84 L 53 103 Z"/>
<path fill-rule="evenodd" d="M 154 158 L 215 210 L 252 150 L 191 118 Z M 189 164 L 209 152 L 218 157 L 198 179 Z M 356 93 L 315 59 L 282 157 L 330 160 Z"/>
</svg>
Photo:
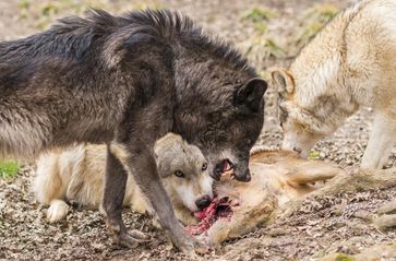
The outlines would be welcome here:
<svg viewBox="0 0 396 261">
<path fill-rule="evenodd" d="M 128 173 L 121 162 L 107 146 L 105 188 L 101 212 L 105 214 L 107 227 L 115 236 L 117 244 L 132 248 L 149 237 L 139 230 L 128 233 L 122 221 L 122 202 L 125 194 Z"/>
</svg>

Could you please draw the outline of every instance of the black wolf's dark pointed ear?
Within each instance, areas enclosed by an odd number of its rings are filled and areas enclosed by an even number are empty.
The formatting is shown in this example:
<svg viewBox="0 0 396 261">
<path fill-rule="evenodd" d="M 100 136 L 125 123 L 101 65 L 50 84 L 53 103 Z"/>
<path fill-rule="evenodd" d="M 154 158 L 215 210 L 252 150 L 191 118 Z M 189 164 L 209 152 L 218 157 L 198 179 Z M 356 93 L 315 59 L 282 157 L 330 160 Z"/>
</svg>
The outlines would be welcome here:
<svg viewBox="0 0 396 261">
<path fill-rule="evenodd" d="M 236 91 L 236 105 L 244 105 L 249 109 L 257 111 L 267 87 L 268 84 L 263 79 L 253 78 L 249 80 L 245 85 Z"/>
</svg>

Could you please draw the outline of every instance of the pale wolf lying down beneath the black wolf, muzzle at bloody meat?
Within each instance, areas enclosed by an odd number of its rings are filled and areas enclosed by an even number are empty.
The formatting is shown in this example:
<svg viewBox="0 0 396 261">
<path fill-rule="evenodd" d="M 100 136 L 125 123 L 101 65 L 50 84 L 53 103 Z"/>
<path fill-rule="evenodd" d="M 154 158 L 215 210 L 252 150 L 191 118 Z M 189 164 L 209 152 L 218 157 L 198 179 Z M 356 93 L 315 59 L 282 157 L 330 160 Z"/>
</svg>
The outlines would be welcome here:
<svg viewBox="0 0 396 261">
<path fill-rule="evenodd" d="M 154 153 L 177 218 L 183 224 L 193 224 L 196 218 L 192 213 L 207 206 L 213 199 L 213 179 L 206 158 L 200 149 L 173 133 L 160 138 L 154 145 Z M 49 205 L 47 220 L 50 223 L 65 217 L 70 209 L 67 201 L 85 207 L 100 207 L 105 164 L 104 144 L 79 144 L 39 157 L 33 191 L 38 202 Z M 123 205 L 155 215 L 131 175 L 127 180 Z"/>
</svg>

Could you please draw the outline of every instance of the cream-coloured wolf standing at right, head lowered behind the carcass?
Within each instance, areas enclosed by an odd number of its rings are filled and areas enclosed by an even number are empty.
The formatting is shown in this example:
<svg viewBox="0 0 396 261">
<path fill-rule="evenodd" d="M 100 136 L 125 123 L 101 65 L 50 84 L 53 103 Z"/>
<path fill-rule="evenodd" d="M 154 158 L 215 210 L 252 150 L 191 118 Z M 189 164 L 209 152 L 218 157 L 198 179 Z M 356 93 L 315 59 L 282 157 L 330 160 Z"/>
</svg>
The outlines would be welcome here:
<svg viewBox="0 0 396 261">
<path fill-rule="evenodd" d="M 360 107 L 375 112 L 361 167 L 382 168 L 396 139 L 396 2 L 363 0 L 331 21 L 289 70 L 272 72 L 283 147 L 307 156 Z"/>
</svg>

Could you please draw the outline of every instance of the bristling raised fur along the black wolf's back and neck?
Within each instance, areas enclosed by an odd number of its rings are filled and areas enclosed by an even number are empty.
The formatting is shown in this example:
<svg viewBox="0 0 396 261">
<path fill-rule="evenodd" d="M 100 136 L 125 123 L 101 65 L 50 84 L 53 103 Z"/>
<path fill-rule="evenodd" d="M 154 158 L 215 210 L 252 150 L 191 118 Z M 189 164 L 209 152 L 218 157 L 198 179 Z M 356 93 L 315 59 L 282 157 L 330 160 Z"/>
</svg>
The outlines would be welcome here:
<svg viewBox="0 0 396 261">
<path fill-rule="evenodd" d="M 116 40 L 118 37 L 122 40 Z M 151 9 L 121 16 L 103 10 L 89 10 L 85 17 L 61 19 L 43 33 L 0 43 L 0 62 L 21 59 L 22 56 L 81 59 L 89 51 L 97 56 L 103 51 L 105 41 L 117 41 L 119 48 L 129 48 L 147 41 L 171 45 L 175 40 L 184 41 L 189 48 L 206 49 L 240 67 L 247 66 L 245 60 L 228 44 L 203 33 L 190 17 L 170 10 Z"/>
</svg>

